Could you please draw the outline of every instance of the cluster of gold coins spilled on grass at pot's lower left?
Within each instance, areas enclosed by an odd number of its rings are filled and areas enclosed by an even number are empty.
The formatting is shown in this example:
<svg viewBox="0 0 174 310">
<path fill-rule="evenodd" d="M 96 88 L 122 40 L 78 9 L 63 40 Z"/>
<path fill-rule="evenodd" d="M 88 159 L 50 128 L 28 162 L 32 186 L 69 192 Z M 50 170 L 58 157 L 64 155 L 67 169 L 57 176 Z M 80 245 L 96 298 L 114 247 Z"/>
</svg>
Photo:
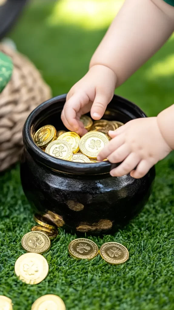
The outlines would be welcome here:
<svg viewBox="0 0 174 310">
<path fill-rule="evenodd" d="M 35 214 L 34 220 L 39 225 L 32 227 L 21 240 L 23 249 L 28 253 L 21 255 L 15 263 L 16 275 L 27 284 L 38 284 L 47 277 L 49 266 L 40 254 L 50 249 L 50 240 L 58 235 L 55 226 L 41 215 Z"/>
</svg>

